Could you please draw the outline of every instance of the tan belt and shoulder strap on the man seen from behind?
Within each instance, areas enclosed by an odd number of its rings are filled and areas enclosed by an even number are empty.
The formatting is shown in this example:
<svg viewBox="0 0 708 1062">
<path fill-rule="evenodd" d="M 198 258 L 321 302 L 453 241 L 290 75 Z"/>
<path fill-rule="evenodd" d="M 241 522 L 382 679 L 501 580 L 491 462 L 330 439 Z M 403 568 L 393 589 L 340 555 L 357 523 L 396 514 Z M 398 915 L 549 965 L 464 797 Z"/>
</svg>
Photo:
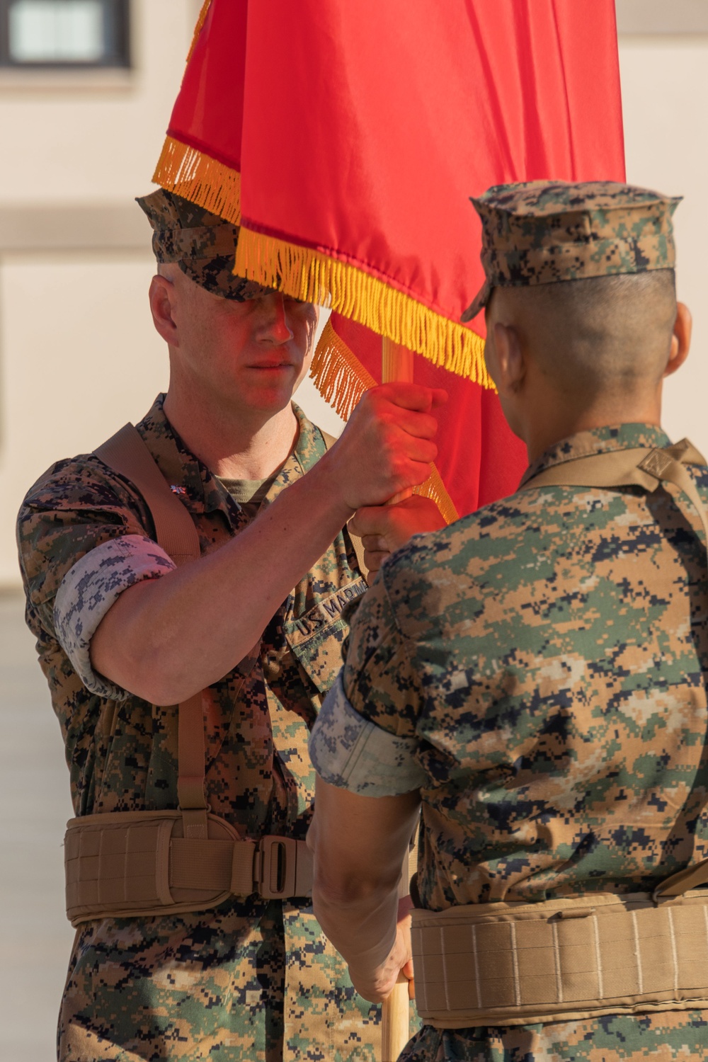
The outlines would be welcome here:
<svg viewBox="0 0 708 1062">
<path fill-rule="evenodd" d="M 547 468 L 520 490 L 674 484 L 708 513 L 685 467 L 705 465 L 684 440 L 666 449 L 595 453 Z M 652 894 L 587 893 L 537 904 L 413 912 L 418 1013 L 436 1028 L 529 1025 L 602 1014 L 708 1008 L 708 859 Z"/>
</svg>

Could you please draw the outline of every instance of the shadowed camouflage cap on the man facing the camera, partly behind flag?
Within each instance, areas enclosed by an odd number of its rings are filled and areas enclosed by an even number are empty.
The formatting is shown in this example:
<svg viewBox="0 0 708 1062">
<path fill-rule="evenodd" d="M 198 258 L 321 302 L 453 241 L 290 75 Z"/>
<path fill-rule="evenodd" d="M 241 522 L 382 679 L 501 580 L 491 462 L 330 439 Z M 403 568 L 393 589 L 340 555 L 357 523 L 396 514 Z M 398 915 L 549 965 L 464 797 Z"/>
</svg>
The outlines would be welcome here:
<svg viewBox="0 0 708 1062">
<path fill-rule="evenodd" d="M 234 274 L 238 225 L 165 188 L 136 202 L 153 226 L 158 262 L 176 262 L 201 288 L 238 303 L 272 293 L 272 288 Z"/>
</svg>

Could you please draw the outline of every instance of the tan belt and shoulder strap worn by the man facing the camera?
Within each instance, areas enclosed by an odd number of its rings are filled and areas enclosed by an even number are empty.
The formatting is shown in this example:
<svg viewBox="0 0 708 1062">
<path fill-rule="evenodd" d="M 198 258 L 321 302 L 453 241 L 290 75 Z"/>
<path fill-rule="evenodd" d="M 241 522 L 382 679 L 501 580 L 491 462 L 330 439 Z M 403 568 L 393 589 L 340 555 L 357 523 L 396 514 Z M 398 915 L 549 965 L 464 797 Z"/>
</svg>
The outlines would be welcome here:
<svg viewBox="0 0 708 1062">
<path fill-rule="evenodd" d="M 175 564 L 198 560 L 194 523 L 137 429 L 126 424 L 96 455 L 140 492 L 157 542 Z M 255 663 L 255 652 L 251 655 Z M 205 910 L 230 895 L 311 893 L 312 859 L 305 841 L 276 835 L 243 839 L 209 812 L 201 692 L 179 704 L 177 731 L 178 809 L 86 815 L 67 823 L 66 904 L 72 925 Z"/>
</svg>

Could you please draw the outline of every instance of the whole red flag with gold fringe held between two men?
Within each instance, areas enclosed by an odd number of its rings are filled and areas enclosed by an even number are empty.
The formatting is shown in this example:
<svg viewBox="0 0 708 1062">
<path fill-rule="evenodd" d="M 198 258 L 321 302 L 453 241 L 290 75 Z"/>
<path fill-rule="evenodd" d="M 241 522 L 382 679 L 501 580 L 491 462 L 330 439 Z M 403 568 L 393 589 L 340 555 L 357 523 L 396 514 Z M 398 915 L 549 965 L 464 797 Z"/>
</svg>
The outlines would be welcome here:
<svg viewBox="0 0 708 1062">
<path fill-rule="evenodd" d="M 385 337 L 445 387 L 422 493 L 448 519 L 525 465 L 484 364 L 469 203 L 624 179 L 614 0 L 211 0 L 154 179 L 241 225 L 236 272 L 334 311 L 313 360 L 344 415 Z"/>
</svg>

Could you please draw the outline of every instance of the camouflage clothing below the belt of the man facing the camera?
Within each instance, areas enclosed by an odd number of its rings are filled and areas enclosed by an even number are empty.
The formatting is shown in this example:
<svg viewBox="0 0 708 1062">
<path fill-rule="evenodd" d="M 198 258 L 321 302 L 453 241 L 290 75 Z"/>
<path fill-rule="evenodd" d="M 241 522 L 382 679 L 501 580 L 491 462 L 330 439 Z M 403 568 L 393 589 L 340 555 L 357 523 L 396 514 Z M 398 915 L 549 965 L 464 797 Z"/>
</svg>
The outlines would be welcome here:
<svg viewBox="0 0 708 1062">
<path fill-rule="evenodd" d="M 74 944 L 59 1062 L 376 1062 L 358 996 L 310 908 L 262 903 L 106 919 Z"/>
</svg>

